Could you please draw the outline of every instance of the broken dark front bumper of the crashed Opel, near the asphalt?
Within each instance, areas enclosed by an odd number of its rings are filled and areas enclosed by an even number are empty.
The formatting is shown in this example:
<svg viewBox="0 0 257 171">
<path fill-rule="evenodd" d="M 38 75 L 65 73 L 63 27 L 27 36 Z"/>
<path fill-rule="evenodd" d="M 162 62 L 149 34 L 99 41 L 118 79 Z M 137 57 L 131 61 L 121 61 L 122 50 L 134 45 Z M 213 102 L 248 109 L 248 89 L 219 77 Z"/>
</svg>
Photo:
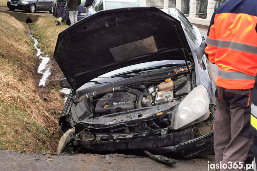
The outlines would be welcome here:
<svg viewBox="0 0 257 171">
<path fill-rule="evenodd" d="M 72 143 L 72 146 L 77 145 L 77 148 L 98 151 L 142 149 L 154 154 L 179 156 L 186 159 L 213 153 L 213 130 L 197 138 L 194 136 L 194 128 L 170 134 L 167 132 L 168 128 L 128 134 L 96 134 L 94 141 L 85 141 L 83 137 L 88 137 L 85 131 L 80 136 L 72 134 L 66 139 L 70 140 L 69 143 Z M 58 151 L 58 153 L 62 152 Z"/>
</svg>

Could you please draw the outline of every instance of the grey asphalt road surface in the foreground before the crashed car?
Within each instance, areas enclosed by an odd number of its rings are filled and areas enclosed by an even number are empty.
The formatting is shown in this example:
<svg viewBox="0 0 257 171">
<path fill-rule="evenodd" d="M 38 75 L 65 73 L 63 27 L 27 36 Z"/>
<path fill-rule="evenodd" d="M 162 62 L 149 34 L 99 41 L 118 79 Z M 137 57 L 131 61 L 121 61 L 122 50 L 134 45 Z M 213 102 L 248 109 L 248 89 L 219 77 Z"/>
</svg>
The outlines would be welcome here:
<svg viewBox="0 0 257 171">
<path fill-rule="evenodd" d="M 164 164 L 147 156 L 138 157 L 124 154 L 42 155 L 1 152 L 0 149 L 1 171 L 207 171 L 208 161 L 214 163 L 214 156 L 203 156 L 189 160 L 178 159 L 175 164 Z"/>
</svg>

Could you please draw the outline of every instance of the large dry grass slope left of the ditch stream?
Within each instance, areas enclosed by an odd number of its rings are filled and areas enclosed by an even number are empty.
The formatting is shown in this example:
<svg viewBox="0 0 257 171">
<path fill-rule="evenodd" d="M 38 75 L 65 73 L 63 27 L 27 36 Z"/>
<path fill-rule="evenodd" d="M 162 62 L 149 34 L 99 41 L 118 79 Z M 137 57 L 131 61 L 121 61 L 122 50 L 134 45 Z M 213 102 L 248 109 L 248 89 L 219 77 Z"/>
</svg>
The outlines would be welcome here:
<svg viewBox="0 0 257 171">
<path fill-rule="evenodd" d="M 63 100 L 56 90 L 49 92 L 48 101 L 37 91 L 33 73 L 39 59 L 28 32 L 27 25 L 0 13 L 0 148 L 56 150 Z"/>
</svg>

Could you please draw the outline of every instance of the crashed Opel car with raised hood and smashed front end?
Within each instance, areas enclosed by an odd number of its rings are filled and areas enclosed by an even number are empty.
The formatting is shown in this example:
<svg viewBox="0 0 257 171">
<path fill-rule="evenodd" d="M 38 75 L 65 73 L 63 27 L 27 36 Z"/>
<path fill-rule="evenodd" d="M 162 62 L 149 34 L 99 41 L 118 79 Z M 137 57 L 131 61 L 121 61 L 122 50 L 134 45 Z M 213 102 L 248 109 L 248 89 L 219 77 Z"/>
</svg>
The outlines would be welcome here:
<svg viewBox="0 0 257 171">
<path fill-rule="evenodd" d="M 63 30 L 54 58 L 72 91 L 58 153 L 213 153 L 216 113 L 205 38 L 175 8 L 103 10 Z"/>
</svg>

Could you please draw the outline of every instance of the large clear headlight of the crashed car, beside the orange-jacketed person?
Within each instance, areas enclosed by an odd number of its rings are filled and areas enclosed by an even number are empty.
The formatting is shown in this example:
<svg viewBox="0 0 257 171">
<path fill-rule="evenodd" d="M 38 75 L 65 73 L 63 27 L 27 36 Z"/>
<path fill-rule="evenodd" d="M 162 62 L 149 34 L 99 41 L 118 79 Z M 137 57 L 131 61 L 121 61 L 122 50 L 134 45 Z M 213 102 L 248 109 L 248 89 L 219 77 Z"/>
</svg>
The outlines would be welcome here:
<svg viewBox="0 0 257 171">
<path fill-rule="evenodd" d="M 172 113 L 171 127 L 181 128 L 193 121 L 200 122 L 209 117 L 209 96 L 207 89 L 199 85 L 175 107 Z"/>
</svg>

